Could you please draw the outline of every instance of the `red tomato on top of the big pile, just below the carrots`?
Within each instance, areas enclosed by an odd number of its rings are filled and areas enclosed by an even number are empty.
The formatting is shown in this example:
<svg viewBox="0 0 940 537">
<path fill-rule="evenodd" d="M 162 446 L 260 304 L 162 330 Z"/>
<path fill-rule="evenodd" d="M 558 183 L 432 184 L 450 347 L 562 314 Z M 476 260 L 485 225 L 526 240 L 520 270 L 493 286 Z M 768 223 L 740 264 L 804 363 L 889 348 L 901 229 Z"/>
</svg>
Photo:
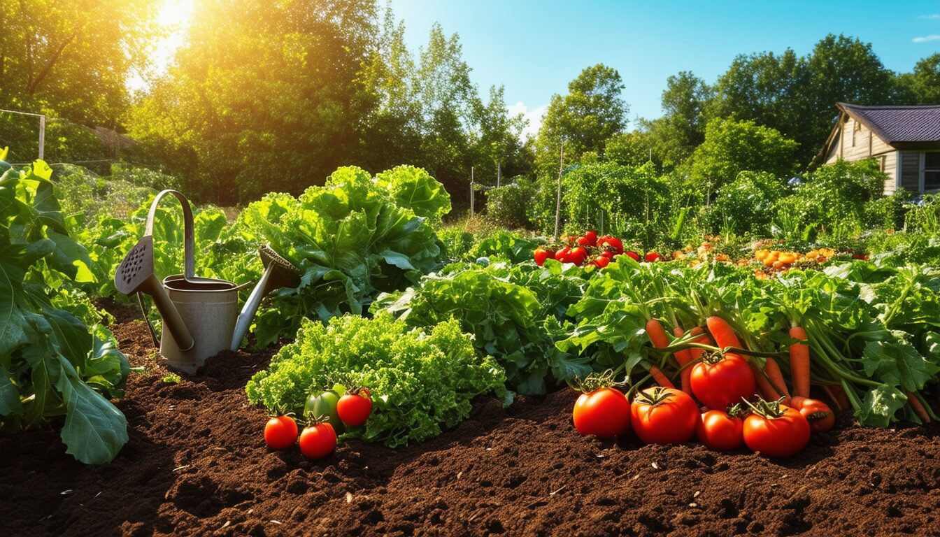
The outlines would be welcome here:
<svg viewBox="0 0 940 537">
<path fill-rule="evenodd" d="M 742 397 L 754 395 L 757 381 L 754 379 L 754 371 L 751 371 L 744 358 L 728 353 L 717 361 L 703 359 L 692 366 L 689 386 L 702 404 L 722 409 L 728 408 L 730 404 L 741 403 Z"/>
</svg>

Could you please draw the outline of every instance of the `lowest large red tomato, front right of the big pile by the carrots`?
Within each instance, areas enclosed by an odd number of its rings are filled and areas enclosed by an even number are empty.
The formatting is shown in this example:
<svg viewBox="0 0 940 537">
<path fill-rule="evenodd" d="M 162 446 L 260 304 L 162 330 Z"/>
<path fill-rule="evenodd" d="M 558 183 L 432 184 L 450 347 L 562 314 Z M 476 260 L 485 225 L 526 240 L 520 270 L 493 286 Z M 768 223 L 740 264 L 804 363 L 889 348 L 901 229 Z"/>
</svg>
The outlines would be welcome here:
<svg viewBox="0 0 940 537">
<path fill-rule="evenodd" d="M 765 457 L 791 457 L 809 442 L 809 422 L 798 411 L 780 405 L 779 417 L 751 414 L 744 419 L 744 444 Z"/>
</svg>

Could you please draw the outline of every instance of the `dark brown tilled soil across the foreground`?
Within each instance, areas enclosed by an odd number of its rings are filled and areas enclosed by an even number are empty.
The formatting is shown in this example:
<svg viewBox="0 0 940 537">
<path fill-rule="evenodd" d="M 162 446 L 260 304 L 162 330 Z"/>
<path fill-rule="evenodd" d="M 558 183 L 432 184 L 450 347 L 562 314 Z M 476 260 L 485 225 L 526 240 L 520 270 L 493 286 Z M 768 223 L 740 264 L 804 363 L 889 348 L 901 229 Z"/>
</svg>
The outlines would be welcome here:
<svg viewBox="0 0 940 537">
<path fill-rule="evenodd" d="M 131 440 L 106 466 L 54 429 L 0 438 L 0 535 L 938 535 L 940 427 L 839 417 L 791 461 L 573 431 L 574 394 L 480 399 L 401 450 L 350 441 L 311 462 L 264 447 L 244 385 L 270 353 L 164 384 L 147 327 L 118 316 Z M 54 427 L 57 424 L 52 424 Z"/>
</svg>

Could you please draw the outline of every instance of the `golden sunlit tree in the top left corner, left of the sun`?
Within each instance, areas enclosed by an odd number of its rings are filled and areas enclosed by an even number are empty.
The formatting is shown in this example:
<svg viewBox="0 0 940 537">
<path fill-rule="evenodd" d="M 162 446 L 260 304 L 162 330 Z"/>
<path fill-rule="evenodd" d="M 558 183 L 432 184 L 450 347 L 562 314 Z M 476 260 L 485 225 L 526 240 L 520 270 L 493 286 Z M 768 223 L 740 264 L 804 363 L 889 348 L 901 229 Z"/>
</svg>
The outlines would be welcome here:
<svg viewBox="0 0 940 537">
<path fill-rule="evenodd" d="M 5 107 L 118 126 L 126 83 L 144 71 L 158 33 L 155 0 L 0 2 Z"/>
</svg>

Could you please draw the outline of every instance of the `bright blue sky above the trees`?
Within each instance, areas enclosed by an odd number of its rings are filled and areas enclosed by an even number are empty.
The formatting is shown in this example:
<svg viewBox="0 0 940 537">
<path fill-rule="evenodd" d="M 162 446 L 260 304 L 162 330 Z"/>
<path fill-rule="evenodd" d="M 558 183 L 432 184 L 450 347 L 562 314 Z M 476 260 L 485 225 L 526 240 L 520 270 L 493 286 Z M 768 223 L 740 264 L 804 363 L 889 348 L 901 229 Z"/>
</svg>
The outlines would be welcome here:
<svg viewBox="0 0 940 537">
<path fill-rule="evenodd" d="M 629 118 L 662 115 L 666 77 L 694 71 L 707 82 L 735 55 L 799 55 L 828 33 L 870 42 L 885 67 L 911 71 L 940 52 L 940 0 L 870 2 L 627 2 L 587 0 L 391 0 L 413 51 L 431 24 L 457 32 L 473 81 L 485 95 L 503 84 L 511 110 L 537 126 L 553 93 L 588 65 L 620 72 Z M 634 126 L 633 123 L 631 126 Z"/>
</svg>

